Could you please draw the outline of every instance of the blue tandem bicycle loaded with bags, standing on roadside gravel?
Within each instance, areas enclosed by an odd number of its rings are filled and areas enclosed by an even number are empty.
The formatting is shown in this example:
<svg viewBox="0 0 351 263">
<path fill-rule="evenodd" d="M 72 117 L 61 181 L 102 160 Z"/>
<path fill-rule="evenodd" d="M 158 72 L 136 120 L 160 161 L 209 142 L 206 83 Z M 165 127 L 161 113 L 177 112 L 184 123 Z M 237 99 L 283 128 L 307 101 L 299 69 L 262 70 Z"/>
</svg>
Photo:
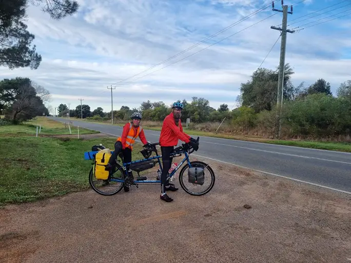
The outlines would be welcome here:
<svg viewBox="0 0 351 263">
<path fill-rule="evenodd" d="M 196 139 L 199 144 L 199 137 Z M 116 159 L 116 164 L 114 168 L 108 172 L 108 177 L 104 179 L 96 179 L 94 175 L 94 163 L 93 167 L 89 173 L 89 184 L 91 188 L 101 195 L 114 195 L 122 190 L 124 186 L 136 186 L 138 188 L 139 184 L 161 184 L 161 174 L 162 174 L 162 155 L 159 155 L 156 146 L 159 143 L 149 144 L 144 146 L 144 149 L 140 152 L 144 156 L 144 159 L 139 159 L 131 161 L 130 163 L 124 163 L 122 152 L 118 155 L 121 160 Z M 104 151 L 106 149 L 104 146 L 99 147 L 93 146 L 92 150 L 84 153 L 84 158 L 88 160 L 94 160 L 95 156 L 99 151 Z M 109 151 L 109 149 L 107 149 Z M 203 161 L 190 161 L 189 155 L 194 151 L 194 149 L 189 144 L 182 144 L 181 146 L 174 148 L 171 152 L 170 157 L 178 157 L 184 154 L 184 158 L 170 173 L 167 174 L 167 185 L 172 185 L 171 181 L 174 179 L 175 173 L 186 163 L 179 173 L 179 183 L 182 189 L 190 195 L 204 195 L 211 191 L 214 186 L 215 176 L 212 168 L 204 163 Z M 110 151 L 113 153 L 113 151 Z M 155 156 L 151 156 L 152 153 Z M 107 164 L 109 157 L 105 159 L 105 164 Z M 122 164 L 122 165 L 121 165 Z M 152 169 L 159 165 L 157 170 L 157 176 L 155 179 L 148 179 L 146 176 L 140 176 L 140 172 Z M 135 179 L 128 176 L 127 166 L 129 169 L 138 173 L 138 177 Z M 187 171 L 187 172 L 186 172 Z M 102 187 L 100 188 L 99 185 Z"/>
</svg>

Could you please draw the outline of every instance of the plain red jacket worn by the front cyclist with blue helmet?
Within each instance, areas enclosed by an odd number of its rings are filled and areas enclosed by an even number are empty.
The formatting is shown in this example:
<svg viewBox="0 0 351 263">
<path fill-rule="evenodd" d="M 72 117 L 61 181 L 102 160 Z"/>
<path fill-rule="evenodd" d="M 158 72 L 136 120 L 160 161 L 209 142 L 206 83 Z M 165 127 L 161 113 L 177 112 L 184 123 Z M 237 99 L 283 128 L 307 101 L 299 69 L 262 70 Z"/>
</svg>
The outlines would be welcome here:
<svg viewBox="0 0 351 263">
<path fill-rule="evenodd" d="M 190 136 L 183 132 L 181 120 L 179 120 L 179 126 L 175 125 L 174 115 L 171 112 L 163 121 L 159 141 L 160 146 L 177 146 L 178 139 L 189 143 Z"/>
</svg>

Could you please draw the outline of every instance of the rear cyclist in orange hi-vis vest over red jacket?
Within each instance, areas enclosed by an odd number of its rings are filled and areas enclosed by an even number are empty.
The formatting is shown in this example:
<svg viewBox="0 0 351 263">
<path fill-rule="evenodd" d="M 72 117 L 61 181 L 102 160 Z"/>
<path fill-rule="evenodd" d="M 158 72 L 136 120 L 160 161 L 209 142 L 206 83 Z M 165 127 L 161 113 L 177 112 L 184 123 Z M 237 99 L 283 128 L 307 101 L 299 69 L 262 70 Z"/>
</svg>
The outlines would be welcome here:
<svg viewBox="0 0 351 263">
<path fill-rule="evenodd" d="M 139 125 L 140 120 L 142 118 L 141 113 L 134 112 L 131 115 L 131 118 L 132 118 L 131 122 L 128 122 L 126 123 L 125 126 L 123 126 L 122 136 L 116 139 L 116 142 L 114 144 L 114 152 L 111 155 L 108 161 L 108 164 L 106 165 L 106 168 L 105 168 L 106 171 L 112 170 L 113 166 L 115 165 L 116 158 L 121 151 L 123 152 L 124 163 L 131 162 L 132 160 L 131 152 L 133 150 L 133 144 L 135 143 L 136 137 L 140 138 L 144 146 L 148 145 L 148 142 L 145 138 L 144 130 Z M 129 165 L 126 165 L 126 169 L 128 171 L 129 176 L 132 178 L 133 174 L 132 174 L 132 171 L 129 169 Z M 128 192 L 129 187 L 125 186 L 124 191 Z"/>
</svg>

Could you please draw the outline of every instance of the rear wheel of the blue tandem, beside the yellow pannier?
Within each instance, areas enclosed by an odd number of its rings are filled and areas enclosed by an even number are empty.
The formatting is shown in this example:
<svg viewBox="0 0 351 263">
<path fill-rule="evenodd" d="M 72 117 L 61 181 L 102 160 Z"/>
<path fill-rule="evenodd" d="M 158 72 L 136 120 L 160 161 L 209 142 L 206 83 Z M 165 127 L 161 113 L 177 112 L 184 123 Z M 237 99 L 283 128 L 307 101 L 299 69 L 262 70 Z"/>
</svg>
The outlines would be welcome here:
<svg viewBox="0 0 351 263">
<path fill-rule="evenodd" d="M 90 169 L 89 173 L 89 184 L 91 188 L 98 194 L 101 195 L 114 195 L 120 192 L 124 186 L 123 182 L 113 181 L 113 179 L 121 179 L 124 178 L 123 168 L 116 164 L 113 169 L 111 179 L 112 180 L 102 180 L 96 179 L 93 173 L 93 167 Z"/>
</svg>

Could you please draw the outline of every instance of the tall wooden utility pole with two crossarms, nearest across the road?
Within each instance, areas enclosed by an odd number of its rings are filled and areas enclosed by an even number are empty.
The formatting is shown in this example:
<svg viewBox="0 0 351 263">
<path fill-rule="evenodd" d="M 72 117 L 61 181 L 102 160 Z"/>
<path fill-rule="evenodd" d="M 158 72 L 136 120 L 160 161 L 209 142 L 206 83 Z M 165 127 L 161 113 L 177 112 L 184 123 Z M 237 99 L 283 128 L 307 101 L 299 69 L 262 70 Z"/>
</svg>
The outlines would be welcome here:
<svg viewBox="0 0 351 263">
<path fill-rule="evenodd" d="M 285 52 L 286 52 L 286 32 L 294 33 L 294 30 L 286 29 L 287 27 L 287 14 L 293 14 L 293 6 L 290 6 L 291 11 L 288 12 L 288 6 L 284 6 L 284 1 L 282 0 L 283 10 L 278 10 L 274 8 L 274 2 L 272 2 L 272 10 L 283 13 L 282 28 L 271 26 L 271 29 L 281 31 L 282 40 L 280 44 L 280 60 L 279 60 L 279 74 L 278 74 L 278 94 L 277 94 L 277 122 L 274 138 L 280 138 L 280 131 L 282 125 L 282 107 L 283 107 L 283 91 L 284 91 L 284 67 L 285 67 Z"/>
</svg>

